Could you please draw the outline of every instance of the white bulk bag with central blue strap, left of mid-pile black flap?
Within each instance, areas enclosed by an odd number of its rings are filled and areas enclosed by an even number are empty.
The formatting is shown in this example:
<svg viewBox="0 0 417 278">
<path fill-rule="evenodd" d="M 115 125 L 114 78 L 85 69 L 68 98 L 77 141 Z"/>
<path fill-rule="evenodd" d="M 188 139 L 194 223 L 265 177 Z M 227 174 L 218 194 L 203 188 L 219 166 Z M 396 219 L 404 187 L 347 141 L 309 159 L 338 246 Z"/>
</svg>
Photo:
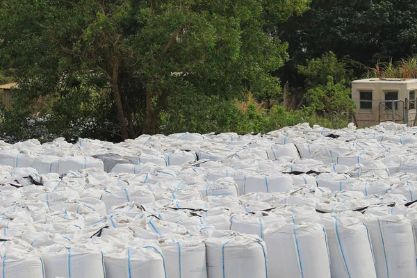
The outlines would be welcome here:
<svg viewBox="0 0 417 278">
<path fill-rule="evenodd" d="M 285 192 L 293 185 L 289 174 L 248 175 L 245 177 L 243 195 L 252 192 Z"/>
</svg>

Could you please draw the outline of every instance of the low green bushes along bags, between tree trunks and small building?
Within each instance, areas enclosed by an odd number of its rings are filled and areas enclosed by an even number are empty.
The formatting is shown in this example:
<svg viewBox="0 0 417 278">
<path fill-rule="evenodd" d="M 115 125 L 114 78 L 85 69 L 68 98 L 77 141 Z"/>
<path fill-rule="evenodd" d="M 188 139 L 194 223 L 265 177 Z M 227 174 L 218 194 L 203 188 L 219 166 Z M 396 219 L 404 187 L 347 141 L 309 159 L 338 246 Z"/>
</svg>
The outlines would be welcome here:
<svg viewBox="0 0 417 278">
<path fill-rule="evenodd" d="M 293 126 L 302 122 L 311 125 L 320 124 L 332 129 L 341 129 L 350 122 L 347 113 L 332 113 L 319 116 L 313 108 L 303 107 L 299 111 L 286 111 L 282 106 L 272 106 L 265 111 L 250 101 L 245 108 L 236 101 L 220 101 L 216 98 L 202 99 L 199 96 L 184 95 L 174 104 L 176 114 L 163 114 L 161 132 L 197 132 L 212 131 L 245 133 L 268 133 L 284 126 Z M 238 107 L 239 106 L 239 107 Z M 172 111 L 172 113 L 174 113 Z M 195 112 L 193 112 L 195 111 Z"/>
</svg>

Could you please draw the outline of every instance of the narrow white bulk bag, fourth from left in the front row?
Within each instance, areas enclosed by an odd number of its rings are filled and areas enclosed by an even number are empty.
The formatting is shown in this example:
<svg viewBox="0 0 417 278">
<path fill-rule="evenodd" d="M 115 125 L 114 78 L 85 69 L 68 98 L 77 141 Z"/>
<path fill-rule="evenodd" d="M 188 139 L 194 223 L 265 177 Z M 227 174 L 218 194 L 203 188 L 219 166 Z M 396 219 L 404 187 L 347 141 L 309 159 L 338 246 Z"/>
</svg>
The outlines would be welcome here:
<svg viewBox="0 0 417 278">
<path fill-rule="evenodd" d="M 201 240 L 161 240 L 167 278 L 206 278 L 206 245 Z"/>
</svg>

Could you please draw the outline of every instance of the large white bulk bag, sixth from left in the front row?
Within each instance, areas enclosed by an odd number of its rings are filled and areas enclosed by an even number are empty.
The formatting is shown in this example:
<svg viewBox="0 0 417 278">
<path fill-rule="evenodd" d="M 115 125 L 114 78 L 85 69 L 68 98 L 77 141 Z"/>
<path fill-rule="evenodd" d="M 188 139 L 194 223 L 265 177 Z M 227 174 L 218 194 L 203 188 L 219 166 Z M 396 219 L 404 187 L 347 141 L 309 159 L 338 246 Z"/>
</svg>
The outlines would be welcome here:
<svg viewBox="0 0 417 278">
<path fill-rule="evenodd" d="M 325 228 L 320 224 L 275 224 L 263 232 L 271 278 L 330 278 Z"/>
</svg>

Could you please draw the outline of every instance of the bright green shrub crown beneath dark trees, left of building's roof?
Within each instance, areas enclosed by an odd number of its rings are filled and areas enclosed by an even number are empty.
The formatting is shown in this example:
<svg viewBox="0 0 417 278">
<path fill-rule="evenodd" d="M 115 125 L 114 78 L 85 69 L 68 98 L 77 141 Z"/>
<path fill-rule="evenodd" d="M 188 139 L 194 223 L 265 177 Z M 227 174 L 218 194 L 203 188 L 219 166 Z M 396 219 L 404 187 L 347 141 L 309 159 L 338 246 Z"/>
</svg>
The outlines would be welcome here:
<svg viewBox="0 0 417 278">
<path fill-rule="evenodd" d="M 298 71 L 306 77 L 307 87 L 328 83 L 328 76 L 332 76 L 335 83 L 350 85 L 353 70 L 347 70 L 347 65 L 340 62 L 332 51 L 323 54 L 321 58 L 307 60 L 306 63 L 306 66 L 299 65 Z"/>
</svg>

